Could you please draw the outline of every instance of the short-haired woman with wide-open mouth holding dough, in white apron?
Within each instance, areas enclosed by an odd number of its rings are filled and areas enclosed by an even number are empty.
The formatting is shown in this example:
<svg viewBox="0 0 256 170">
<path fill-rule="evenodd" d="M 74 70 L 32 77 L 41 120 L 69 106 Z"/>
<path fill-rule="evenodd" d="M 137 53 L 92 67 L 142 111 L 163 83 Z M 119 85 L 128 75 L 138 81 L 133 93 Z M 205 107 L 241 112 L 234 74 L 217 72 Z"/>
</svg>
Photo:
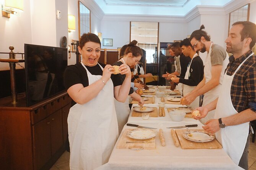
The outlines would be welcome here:
<svg viewBox="0 0 256 170">
<path fill-rule="evenodd" d="M 114 67 L 103 69 L 98 63 L 100 47 L 97 35 L 83 34 L 78 47 L 83 60 L 64 73 L 68 95 L 76 103 L 68 114 L 70 170 L 93 170 L 108 162 L 118 138 L 114 98 L 126 101 L 130 89 L 130 68 L 119 66 L 126 78 L 116 85 L 121 80 L 112 74 Z"/>
</svg>

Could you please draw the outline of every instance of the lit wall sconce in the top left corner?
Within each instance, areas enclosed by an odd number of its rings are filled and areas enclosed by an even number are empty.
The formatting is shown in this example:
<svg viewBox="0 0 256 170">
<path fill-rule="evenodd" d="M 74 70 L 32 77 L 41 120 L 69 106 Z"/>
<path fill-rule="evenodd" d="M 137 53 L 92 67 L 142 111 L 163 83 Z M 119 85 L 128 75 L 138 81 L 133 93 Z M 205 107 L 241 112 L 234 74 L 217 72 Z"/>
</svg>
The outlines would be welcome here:
<svg viewBox="0 0 256 170">
<path fill-rule="evenodd" d="M 10 18 L 10 14 L 18 14 L 23 12 L 23 0 L 5 0 L 2 5 L 2 16 Z"/>
</svg>

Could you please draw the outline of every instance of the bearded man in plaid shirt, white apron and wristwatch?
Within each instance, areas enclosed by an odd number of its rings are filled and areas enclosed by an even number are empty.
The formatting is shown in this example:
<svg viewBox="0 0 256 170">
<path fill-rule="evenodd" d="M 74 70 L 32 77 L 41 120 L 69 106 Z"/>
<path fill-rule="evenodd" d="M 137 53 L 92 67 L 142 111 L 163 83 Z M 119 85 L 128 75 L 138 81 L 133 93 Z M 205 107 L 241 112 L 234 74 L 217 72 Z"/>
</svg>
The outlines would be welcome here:
<svg viewBox="0 0 256 170">
<path fill-rule="evenodd" d="M 198 107 L 201 116 L 215 110 L 215 119 L 203 127 L 215 133 L 216 139 L 236 165 L 248 170 L 249 121 L 256 119 L 256 56 L 251 48 L 256 43 L 256 25 L 235 22 L 230 29 L 227 52 L 232 53 L 225 71 L 218 99 Z"/>
</svg>

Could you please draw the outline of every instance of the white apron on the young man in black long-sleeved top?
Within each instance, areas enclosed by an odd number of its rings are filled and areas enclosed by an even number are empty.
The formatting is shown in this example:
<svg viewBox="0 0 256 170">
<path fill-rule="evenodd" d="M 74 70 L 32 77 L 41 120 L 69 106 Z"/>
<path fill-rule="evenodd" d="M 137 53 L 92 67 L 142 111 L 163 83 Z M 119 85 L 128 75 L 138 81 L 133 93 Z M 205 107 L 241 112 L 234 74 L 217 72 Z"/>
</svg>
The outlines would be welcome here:
<svg viewBox="0 0 256 170">
<path fill-rule="evenodd" d="M 190 66 L 191 66 L 192 60 L 196 56 L 198 56 L 197 53 L 191 59 L 189 65 L 187 67 L 187 71 L 186 71 L 184 79 L 188 79 L 189 78 Z M 192 90 L 194 90 L 194 88 L 196 88 L 196 86 L 188 86 L 188 85 L 182 84 L 183 96 L 186 96 L 188 93 L 190 93 Z M 188 107 L 192 107 L 192 109 L 196 109 L 198 106 L 199 106 L 199 96 L 197 96 L 197 98 L 191 104 L 188 105 Z"/>
</svg>

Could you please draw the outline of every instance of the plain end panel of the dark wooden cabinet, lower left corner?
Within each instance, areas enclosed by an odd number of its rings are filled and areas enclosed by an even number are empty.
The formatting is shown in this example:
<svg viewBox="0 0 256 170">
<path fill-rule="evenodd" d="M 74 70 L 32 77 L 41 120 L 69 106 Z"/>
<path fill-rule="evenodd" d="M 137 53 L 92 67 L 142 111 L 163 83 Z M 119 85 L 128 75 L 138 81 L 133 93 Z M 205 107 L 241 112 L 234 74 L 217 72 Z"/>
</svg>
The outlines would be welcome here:
<svg viewBox="0 0 256 170">
<path fill-rule="evenodd" d="M 32 136 L 29 111 L 0 108 L 0 169 L 31 170 Z"/>
</svg>

